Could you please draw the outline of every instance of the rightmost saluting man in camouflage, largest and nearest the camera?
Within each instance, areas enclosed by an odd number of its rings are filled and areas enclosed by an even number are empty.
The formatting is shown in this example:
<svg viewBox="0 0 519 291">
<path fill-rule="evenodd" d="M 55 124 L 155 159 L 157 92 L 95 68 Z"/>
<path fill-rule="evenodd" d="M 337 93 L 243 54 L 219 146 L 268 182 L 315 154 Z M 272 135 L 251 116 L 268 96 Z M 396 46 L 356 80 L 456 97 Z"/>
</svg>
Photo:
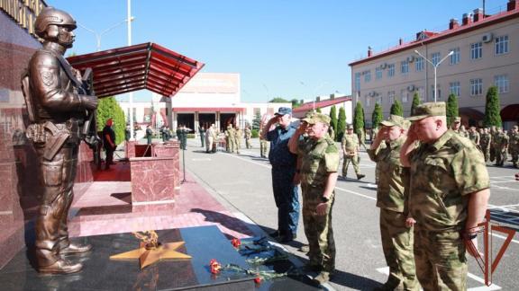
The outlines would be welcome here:
<svg viewBox="0 0 519 291">
<path fill-rule="evenodd" d="M 423 103 L 409 119 L 400 157 L 411 173 L 416 276 L 423 290 L 467 290 L 465 252 L 478 255 L 477 226 L 490 196 L 483 154 L 447 129 L 444 102 Z"/>
</svg>

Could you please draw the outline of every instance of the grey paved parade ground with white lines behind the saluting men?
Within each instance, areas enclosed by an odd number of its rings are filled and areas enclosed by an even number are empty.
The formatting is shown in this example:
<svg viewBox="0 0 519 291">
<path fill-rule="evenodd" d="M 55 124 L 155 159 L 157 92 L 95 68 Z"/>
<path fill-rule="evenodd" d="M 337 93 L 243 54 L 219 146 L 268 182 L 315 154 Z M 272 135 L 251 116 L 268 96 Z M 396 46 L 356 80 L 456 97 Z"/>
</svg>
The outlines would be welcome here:
<svg viewBox="0 0 519 291">
<path fill-rule="evenodd" d="M 188 179 L 198 182 L 235 216 L 249 222 L 256 235 L 275 230 L 277 208 L 271 189 L 270 164 L 268 159 L 259 157 L 258 140 L 254 140 L 253 149 L 241 149 L 241 154 L 205 154 L 205 148 L 199 143 L 199 139 L 188 140 L 185 152 Z M 330 285 L 337 290 L 368 290 L 387 279 L 388 269 L 378 229 L 378 208 L 375 206 L 375 163 L 369 161 L 365 152 L 360 157 L 360 169 L 366 178 L 357 181 L 353 169 L 350 169 L 348 179 L 340 177 L 335 189 L 333 232 L 337 272 Z M 504 168 L 489 165 L 488 172 L 492 185 L 489 200 L 492 221 L 519 228 L 519 181 L 514 181 L 514 173 L 519 171 L 510 165 Z M 305 253 L 298 250 L 306 242 L 301 219 L 300 216 L 296 240 L 286 247 L 304 262 Z M 504 235 L 493 234 L 492 242 L 495 257 L 505 242 Z M 479 235 L 480 250 L 482 244 L 482 235 Z M 485 287 L 484 275 L 476 260 L 469 259 L 469 290 L 516 289 L 518 256 L 519 235 L 515 234 L 496 269 L 491 287 Z"/>
</svg>

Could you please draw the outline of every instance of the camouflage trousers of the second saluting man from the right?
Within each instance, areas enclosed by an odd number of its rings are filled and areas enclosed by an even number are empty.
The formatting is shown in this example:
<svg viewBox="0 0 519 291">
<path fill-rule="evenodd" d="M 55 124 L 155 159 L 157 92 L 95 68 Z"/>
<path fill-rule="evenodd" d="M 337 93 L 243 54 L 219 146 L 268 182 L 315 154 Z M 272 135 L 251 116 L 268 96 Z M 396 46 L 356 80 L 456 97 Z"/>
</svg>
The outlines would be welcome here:
<svg viewBox="0 0 519 291">
<path fill-rule="evenodd" d="M 404 290 L 419 290 L 414 269 L 413 228 L 405 226 L 402 212 L 380 208 L 380 236 L 389 267 L 387 283 L 391 287 L 402 284 Z"/>
</svg>

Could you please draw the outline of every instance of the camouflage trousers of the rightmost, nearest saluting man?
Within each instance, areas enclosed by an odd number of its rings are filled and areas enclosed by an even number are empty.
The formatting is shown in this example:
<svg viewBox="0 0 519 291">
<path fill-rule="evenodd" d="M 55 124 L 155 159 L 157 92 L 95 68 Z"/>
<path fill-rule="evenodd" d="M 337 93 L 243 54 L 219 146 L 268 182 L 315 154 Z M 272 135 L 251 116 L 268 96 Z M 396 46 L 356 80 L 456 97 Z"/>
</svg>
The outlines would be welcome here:
<svg viewBox="0 0 519 291">
<path fill-rule="evenodd" d="M 430 232 L 415 225 L 414 262 L 423 290 L 467 290 L 465 243 L 459 231 Z"/>
</svg>

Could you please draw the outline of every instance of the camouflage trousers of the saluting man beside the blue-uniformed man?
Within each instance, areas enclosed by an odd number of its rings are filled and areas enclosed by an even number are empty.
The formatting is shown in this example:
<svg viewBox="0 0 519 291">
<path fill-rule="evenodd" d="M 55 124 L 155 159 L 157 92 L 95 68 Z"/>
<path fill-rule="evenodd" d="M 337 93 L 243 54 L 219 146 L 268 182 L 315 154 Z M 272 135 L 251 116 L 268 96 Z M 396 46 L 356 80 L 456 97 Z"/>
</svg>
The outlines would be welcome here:
<svg viewBox="0 0 519 291">
<path fill-rule="evenodd" d="M 318 216 L 316 207 L 322 203 L 323 187 L 301 184 L 303 192 L 303 224 L 308 239 L 309 264 L 321 267 L 324 271 L 335 270 L 335 241 L 333 240 L 332 207 L 335 194 L 327 202 L 328 210 L 324 216 Z"/>
</svg>

